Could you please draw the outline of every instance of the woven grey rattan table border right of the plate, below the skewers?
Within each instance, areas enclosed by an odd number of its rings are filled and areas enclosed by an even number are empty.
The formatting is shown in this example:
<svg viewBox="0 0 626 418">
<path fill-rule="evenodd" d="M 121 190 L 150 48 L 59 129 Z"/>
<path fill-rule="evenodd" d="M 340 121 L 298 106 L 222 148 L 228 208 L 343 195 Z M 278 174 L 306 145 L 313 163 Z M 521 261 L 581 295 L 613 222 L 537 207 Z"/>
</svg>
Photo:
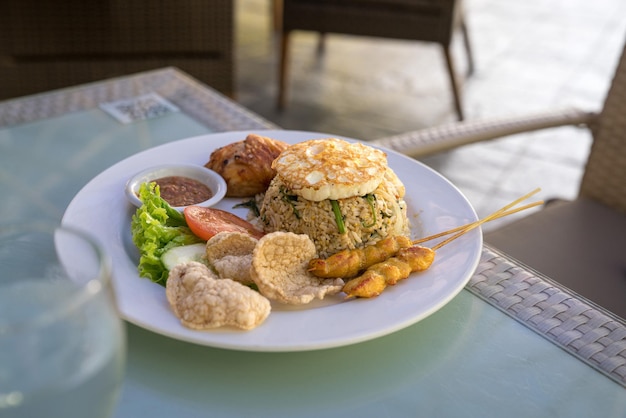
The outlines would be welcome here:
<svg viewBox="0 0 626 418">
<path fill-rule="evenodd" d="M 626 321 L 485 246 L 466 289 L 626 387 Z"/>
</svg>

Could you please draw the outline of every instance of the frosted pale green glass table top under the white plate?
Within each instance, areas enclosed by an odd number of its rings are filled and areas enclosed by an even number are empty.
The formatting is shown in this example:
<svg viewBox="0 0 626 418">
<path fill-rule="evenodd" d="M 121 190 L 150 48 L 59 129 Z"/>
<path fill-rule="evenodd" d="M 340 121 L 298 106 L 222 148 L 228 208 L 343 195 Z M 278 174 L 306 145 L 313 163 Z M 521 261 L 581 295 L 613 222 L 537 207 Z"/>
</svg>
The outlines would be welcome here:
<svg viewBox="0 0 626 418">
<path fill-rule="evenodd" d="M 112 164 L 219 129 L 184 109 L 122 124 L 98 107 L 0 126 L 0 224 L 59 221 Z M 335 349 L 222 350 L 131 324 L 128 338 L 118 418 L 626 415 L 623 386 L 466 290 L 413 326 Z"/>
</svg>

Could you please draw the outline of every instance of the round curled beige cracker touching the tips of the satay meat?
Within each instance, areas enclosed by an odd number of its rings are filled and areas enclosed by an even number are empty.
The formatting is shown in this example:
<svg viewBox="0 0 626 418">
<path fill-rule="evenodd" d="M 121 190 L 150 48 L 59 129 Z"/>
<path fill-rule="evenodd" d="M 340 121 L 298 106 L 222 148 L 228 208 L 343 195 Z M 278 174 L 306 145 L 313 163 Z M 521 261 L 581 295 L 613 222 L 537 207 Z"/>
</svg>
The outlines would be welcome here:
<svg viewBox="0 0 626 418">
<path fill-rule="evenodd" d="M 269 299 L 301 305 L 339 293 L 341 279 L 321 279 L 309 273 L 316 250 L 308 235 L 272 232 L 261 238 L 252 254 L 252 279 Z"/>
</svg>

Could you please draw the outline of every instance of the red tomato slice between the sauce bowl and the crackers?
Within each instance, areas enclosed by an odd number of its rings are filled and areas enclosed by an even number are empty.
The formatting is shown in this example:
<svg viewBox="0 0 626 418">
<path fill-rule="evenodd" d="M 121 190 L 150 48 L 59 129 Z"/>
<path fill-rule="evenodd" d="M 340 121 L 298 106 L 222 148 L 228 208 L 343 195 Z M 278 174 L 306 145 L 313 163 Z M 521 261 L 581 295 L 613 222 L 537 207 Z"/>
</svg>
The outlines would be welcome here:
<svg viewBox="0 0 626 418">
<path fill-rule="evenodd" d="M 183 213 L 191 232 L 205 241 L 220 232 L 243 232 L 255 238 L 264 235 L 250 222 L 225 210 L 187 206 Z"/>
</svg>

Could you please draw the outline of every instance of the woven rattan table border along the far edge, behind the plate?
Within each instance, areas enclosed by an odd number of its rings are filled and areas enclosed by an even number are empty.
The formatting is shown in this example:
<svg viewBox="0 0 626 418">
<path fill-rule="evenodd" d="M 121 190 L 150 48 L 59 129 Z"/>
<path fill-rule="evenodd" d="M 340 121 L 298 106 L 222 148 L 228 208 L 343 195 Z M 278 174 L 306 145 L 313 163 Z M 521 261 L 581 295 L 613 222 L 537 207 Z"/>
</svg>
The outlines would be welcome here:
<svg viewBox="0 0 626 418">
<path fill-rule="evenodd" d="M 96 108 L 100 103 L 158 93 L 187 115 L 221 132 L 272 129 L 275 125 L 175 68 L 11 99 L 0 108 L 0 127 Z"/>
</svg>

